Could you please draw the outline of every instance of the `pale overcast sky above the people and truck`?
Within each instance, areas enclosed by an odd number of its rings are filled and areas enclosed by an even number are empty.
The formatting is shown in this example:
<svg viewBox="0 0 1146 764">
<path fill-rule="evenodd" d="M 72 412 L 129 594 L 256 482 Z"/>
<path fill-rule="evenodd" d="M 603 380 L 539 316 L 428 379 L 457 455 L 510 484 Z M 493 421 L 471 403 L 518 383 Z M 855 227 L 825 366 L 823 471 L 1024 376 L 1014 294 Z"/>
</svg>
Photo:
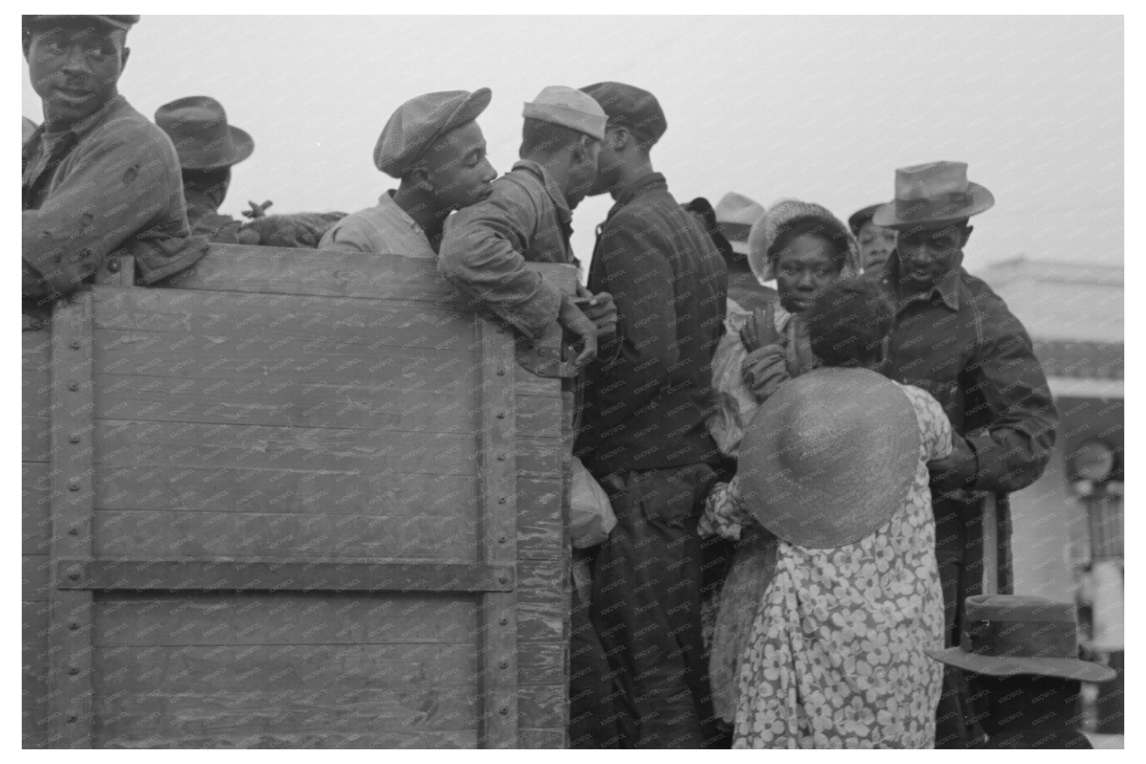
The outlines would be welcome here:
<svg viewBox="0 0 1146 764">
<path fill-rule="evenodd" d="M 144 16 L 120 90 L 144 115 L 211 95 L 250 132 L 223 211 L 375 203 L 382 126 L 407 99 L 489 87 L 479 118 L 499 172 L 521 103 L 613 79 L 668 118 L 653 149 L 681 202 L 735 190 L 838 216 L 887 200 L 897 166 L 970 164 L 996 206 L 974 219 L 971 270 L 1031 258 L 1121 263 L 1121 17 Z M 23 113 L 40 121 L 24 66 Z M 588 261 L 611 199 L 574 213 Z"/>
</svg>

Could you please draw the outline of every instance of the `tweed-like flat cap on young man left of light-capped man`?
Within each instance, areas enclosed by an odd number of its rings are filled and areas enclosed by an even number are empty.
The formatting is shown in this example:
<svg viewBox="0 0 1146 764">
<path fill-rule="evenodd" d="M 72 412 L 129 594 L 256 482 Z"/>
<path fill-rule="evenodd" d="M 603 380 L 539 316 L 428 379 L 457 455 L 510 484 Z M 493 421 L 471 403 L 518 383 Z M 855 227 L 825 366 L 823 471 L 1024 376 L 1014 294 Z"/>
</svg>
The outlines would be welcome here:
<svg viewBox="0 0 1146 764">
<path fill-rule="evenodd" d="M 401 178 L 415 167 L 433 141 L 478 118 L 493 93 L 488 87 L 469 90 L 425 93 L 410 99 L 391 115 L 374 144 L 374 165 L 391 178 Z"/>
</svg>

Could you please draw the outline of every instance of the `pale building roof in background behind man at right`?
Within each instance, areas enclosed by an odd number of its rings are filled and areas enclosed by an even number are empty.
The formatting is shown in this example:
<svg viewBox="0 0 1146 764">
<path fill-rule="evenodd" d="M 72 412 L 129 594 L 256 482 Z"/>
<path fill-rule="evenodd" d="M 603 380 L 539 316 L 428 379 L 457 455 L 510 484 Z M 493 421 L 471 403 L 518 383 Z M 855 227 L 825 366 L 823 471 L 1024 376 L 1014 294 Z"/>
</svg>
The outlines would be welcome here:
<svg viewBox="0 0 1146 764">
<path fill-rule="evenodd" d="M 1035 344 L 1123 342 L 1123 268 L 1046 262 L 1025 255 L 975 271 L 1002 297 Z M 1122 348 L 1117 348 L 1121 355 Z"/>
</svg>

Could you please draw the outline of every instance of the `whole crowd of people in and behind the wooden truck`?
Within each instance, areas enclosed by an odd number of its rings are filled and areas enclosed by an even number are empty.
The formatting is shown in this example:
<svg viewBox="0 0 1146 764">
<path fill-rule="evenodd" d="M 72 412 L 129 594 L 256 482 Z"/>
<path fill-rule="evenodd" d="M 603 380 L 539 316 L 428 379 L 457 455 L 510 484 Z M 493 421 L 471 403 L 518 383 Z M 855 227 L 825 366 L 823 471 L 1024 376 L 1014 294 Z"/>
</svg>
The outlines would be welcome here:
<svg viewBox="0 0 1146 764">
<path fill-rule="evenodd" d="M 244 222 L 218 212 L 253 150 L 222 105 L 152 123 L 118 93 L 136 22 L 24 16 L 44 103 L 22 148 L 25 326 L 119 253 L 163 285 L 209 242 L 425 259 L 523 334 L 563 325 L 572 457 L 615 517 L 574 551 L 571 745 L 1086 747 L 1073 703 L 1106 670 L 1077 660 L 1073 611 L 1011 594 L 1005 559 L 981 593 L 984 503 L 1007 538 L 1057 413 L 1026 330 L 961 267 L 995 203 L 966 164 L 896 170 L 847 225 L 795 199 L 681 205 L 646 90 L 543 88 L 501 176 L 490 90 L 449 90 L 383 127 L 397 188 L 376 205 L 252 203 Z M 563 293 L 526 263 L 580 266 L 572 211 L 603 194 L 588 285 Z"/>
</svg>

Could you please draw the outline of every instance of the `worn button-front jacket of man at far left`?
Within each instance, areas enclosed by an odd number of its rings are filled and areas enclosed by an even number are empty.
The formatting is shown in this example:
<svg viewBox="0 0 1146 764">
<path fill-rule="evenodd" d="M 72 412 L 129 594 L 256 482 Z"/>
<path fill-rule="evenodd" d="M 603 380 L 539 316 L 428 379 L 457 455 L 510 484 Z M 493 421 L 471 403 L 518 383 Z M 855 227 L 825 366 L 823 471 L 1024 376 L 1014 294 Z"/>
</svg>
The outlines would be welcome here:
<svg viewBox="0 0 1146 764">
<path fill-rule="evenodd" d="M 72 129 L 41 125 L 22 162 L 23 255 L 38 269 L 65 254 L 99 267 L 124 253 L 149 284 L 206 252 L 204 238 L 189 236 L 171 140 L 123 96 Z"/>
</svg>

